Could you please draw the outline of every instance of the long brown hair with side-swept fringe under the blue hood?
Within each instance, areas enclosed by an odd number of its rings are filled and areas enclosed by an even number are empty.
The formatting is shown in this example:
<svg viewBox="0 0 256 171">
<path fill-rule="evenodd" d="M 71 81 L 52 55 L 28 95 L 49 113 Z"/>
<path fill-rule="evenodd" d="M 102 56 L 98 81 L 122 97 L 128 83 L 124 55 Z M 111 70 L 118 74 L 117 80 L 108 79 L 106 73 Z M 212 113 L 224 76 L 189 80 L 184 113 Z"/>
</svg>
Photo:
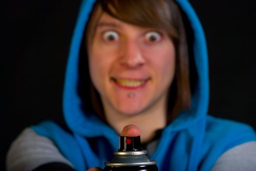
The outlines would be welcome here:
<svg viewBox="0 0 256 171">
<path fill-rule="evenodd" d="M 178 5 L 173 0 L 97 0 L 87 24 L 86 44 L 92 43 L 94 30 L 103 12 L 130 24 L 163 29 L 173 41 L 176 70 L 166 102 L 167 123 L 170 123 L 191 104 L 186 33 Z M 95 88 L 92 89 L 94 111 L 105 120 L 99 95 Z"/>
</svg>

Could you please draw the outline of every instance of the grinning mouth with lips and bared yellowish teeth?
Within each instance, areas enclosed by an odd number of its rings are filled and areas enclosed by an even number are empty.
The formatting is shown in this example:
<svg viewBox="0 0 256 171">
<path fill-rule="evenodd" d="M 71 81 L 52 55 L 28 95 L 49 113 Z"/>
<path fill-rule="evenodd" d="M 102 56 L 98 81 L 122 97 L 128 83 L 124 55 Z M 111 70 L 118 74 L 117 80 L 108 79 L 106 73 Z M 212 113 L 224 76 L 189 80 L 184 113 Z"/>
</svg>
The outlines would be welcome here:
<svg viewBox="0 0 256 171">
<path fill-rule="evenodd" d="M 132 79 L 132 78 L 111 78 L 111 81 L 119 88 L 127 90 L 137 90 L 146 86 L 150 78 L 147 79 Z"/>
</svg>

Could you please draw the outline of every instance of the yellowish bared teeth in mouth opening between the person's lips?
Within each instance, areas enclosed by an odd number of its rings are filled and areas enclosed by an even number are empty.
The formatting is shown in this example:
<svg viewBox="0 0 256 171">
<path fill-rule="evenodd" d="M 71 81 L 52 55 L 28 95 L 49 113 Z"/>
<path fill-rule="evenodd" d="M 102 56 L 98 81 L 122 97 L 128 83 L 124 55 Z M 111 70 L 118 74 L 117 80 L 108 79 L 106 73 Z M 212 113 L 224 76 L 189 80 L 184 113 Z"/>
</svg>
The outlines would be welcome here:
<svg viewBox="0 0 256 171">
<path fill-rule="evenodd" d="M 132 79 L 114 79 L 112 78 L 112 80 L 120 86 L 124 86 L 124 87 L 130 87 L 130 88 L 136 88 L 136 87 L 140 87 L 142 85 L 144 85 L 147 80 L 132 80 Z"/>
</svg>

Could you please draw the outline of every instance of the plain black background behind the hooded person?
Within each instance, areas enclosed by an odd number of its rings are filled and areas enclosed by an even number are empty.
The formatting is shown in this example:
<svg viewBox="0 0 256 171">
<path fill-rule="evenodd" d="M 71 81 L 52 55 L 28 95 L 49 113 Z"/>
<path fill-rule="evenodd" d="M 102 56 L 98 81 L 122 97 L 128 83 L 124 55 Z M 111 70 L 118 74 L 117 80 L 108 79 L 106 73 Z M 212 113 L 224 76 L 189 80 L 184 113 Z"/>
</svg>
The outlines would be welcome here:
<svg viewBox="0 0 256 171">
<path fill-rule="evenodd" d="M 256 1 L 190 0 L 209 51 L 209 114 L 256 128 Z M 23 128 L 62 116 L 62 90 L 79 0 L 2 3 L 0 170 Z"/>
</svg>

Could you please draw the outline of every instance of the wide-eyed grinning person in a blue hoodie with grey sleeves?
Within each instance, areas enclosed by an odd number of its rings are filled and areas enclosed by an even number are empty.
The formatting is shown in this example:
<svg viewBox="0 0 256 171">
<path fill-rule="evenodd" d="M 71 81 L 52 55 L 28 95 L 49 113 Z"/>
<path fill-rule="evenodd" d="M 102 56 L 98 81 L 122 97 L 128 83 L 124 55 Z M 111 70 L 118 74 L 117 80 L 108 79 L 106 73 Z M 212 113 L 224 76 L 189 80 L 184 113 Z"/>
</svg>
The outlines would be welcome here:
<svg viewBox="0 0 256 171">
<path fill-rule="evenodd" d="M 208 103 L 206 41 L 187 0 L 83 0 L 64 86 L 67 127 L 25 128 L 7 170 L 103 168 L 128 125 L 160 171 L 253 171 L 255 131 L 207 115 Z"/>
</svg>

